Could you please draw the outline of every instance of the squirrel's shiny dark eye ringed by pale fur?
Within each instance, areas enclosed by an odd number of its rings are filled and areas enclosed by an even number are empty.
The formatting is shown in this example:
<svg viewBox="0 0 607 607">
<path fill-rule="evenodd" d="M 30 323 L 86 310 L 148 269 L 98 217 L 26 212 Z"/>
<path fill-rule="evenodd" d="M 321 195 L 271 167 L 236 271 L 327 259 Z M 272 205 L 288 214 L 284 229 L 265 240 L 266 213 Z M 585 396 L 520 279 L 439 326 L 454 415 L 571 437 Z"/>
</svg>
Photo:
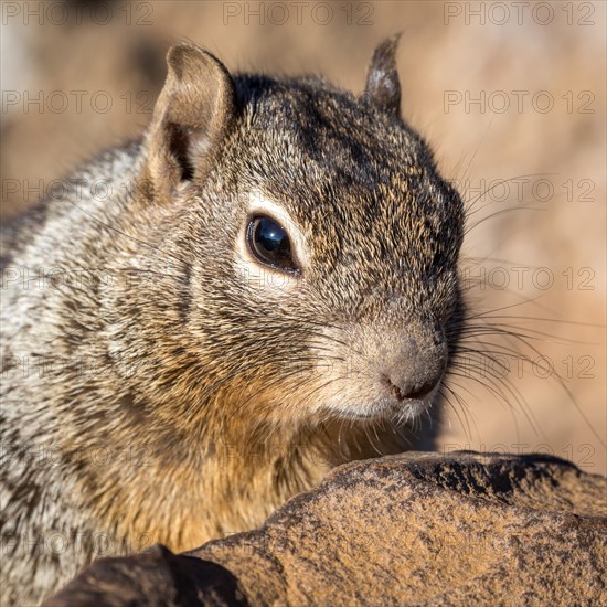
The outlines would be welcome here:
<svg viewBox="0 0 607 607">
<path fill-rule="evenodd" d="M 246 239 L 253 255 L 263 264 L 286 271 L 298 269 L 286 230 L 271 217 L 253 217 L 248 223 Z"/>
</svg>

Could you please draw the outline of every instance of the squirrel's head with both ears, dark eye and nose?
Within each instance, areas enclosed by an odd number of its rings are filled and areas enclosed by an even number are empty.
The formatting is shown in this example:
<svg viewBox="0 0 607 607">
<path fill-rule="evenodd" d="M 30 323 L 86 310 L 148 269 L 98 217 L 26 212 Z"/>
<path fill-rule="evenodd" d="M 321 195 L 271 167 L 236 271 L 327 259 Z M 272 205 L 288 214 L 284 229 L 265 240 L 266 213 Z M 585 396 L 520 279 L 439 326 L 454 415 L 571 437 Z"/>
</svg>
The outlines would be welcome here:
<svg viewBox="0 0 607 607">
<path fill-rule="evenodd" d="M 396 45 L 377 47 L 359 96 L 170 50 L 139 200 L 180 259 L 164 278 L 179 288 L 156 294 L 179 309 L 160 365 L 187 377 L 190 406 L 404 420 L 435 397 L 464 206 L 401 117 Z"/>
</svg>

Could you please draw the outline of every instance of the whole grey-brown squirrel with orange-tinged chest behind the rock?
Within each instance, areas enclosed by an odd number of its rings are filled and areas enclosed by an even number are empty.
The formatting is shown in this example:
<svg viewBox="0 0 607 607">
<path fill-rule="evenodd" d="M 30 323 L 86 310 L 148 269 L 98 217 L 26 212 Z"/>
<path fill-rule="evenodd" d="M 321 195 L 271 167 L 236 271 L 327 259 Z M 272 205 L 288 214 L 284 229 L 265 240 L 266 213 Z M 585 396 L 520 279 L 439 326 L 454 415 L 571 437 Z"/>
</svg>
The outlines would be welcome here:
<svg viewBox="0 0 607 607">
<path fill-rule="evenodd" d="M 360 96 L 178 44 L 141 140 L 7 226 L 2 605 L 259 525 L 415 439 L 462 321 L 465 213 L 401 117 L 396 44 Z"/>
</svg>

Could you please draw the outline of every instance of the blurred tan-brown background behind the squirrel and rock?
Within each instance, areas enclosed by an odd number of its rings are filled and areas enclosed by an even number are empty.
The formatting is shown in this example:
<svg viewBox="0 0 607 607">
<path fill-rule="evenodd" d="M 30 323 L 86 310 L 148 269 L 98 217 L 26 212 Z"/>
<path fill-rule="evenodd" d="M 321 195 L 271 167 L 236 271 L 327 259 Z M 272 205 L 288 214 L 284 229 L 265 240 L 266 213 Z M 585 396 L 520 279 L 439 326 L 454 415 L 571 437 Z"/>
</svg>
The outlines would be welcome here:
<svg viewBox="0 0 607 607">
<path fill-rule="evenodd" d="M 2 220 L 145 129 L 171 42 L 360 92 L 374 46 L 402 31 L 403 115 L 471 209 L 466 343 L 481 354 L 449 384 L 438 448 L 605 472 L 606 6 L 6 1 Z"/>
</svg>

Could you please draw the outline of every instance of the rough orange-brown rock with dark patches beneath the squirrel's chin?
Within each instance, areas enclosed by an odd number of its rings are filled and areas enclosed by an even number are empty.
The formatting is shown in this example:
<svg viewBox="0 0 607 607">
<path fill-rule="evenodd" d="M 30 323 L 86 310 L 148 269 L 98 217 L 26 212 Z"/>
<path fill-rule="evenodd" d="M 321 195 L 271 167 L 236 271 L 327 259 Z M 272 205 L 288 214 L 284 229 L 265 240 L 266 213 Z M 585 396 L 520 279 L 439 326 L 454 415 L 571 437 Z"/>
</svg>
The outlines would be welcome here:
<svg viewBox="0 0 607 607">
<path fill-rule="evenodd" d="M 258 530 L 99 560 L 45 605 L 607 605 L 606 497 L 553 457 L 356 461 Z"/>
</svg>

